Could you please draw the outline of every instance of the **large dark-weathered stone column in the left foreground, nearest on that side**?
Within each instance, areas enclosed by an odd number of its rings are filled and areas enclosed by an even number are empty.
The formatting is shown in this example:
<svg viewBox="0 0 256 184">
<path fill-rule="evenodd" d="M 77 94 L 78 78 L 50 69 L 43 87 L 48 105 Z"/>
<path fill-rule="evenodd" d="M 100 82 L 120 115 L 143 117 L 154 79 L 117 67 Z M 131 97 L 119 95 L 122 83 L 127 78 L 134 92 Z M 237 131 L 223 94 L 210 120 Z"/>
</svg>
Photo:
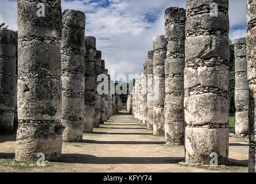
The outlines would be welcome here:
<svg viewBox="0 0 256 184">
<path fill-rule="evenodd" d="M 57 159 L 62 150 L 61 1 L 17 1 L 18 130 L 16 160 Z"/>
</svg>

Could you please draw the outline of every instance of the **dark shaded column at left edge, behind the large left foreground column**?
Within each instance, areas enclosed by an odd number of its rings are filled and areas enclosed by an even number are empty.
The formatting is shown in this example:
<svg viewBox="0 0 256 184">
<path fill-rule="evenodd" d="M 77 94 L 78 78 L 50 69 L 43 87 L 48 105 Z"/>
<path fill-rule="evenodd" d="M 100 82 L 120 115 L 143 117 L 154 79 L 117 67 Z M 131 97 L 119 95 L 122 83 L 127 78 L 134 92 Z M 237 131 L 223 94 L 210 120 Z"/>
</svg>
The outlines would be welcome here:
<svg viewBox="0 0 256 184">
<path fill-rule="evenodd" d="M 12 30 L 0 30 L 0 132 L 13 130 L 16 105 L 16 41 Z"/>
</svg>

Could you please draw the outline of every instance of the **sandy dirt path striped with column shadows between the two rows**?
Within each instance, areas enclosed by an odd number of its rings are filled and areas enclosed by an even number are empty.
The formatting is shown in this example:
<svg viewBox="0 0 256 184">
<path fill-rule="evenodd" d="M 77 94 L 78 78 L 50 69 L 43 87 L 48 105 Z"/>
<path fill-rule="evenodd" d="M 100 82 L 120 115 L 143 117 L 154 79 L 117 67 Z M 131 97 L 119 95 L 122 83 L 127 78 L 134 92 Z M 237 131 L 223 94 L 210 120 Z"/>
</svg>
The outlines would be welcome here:
<svg viewBox="0 0 256 184">
<path fill-rule="evenodd" d="M 231 137 L 229 166 L 184 166 L 184 146 L 165 145 L 164 136 L 138 124 L 126 111 L 84 134 L 82 143 L 63 143 L 62 157 L 45 167 L 15 162 L 15 133 L 0 135 L 1 172 L 247 172 L 248 143 Z"/>
</svg>

